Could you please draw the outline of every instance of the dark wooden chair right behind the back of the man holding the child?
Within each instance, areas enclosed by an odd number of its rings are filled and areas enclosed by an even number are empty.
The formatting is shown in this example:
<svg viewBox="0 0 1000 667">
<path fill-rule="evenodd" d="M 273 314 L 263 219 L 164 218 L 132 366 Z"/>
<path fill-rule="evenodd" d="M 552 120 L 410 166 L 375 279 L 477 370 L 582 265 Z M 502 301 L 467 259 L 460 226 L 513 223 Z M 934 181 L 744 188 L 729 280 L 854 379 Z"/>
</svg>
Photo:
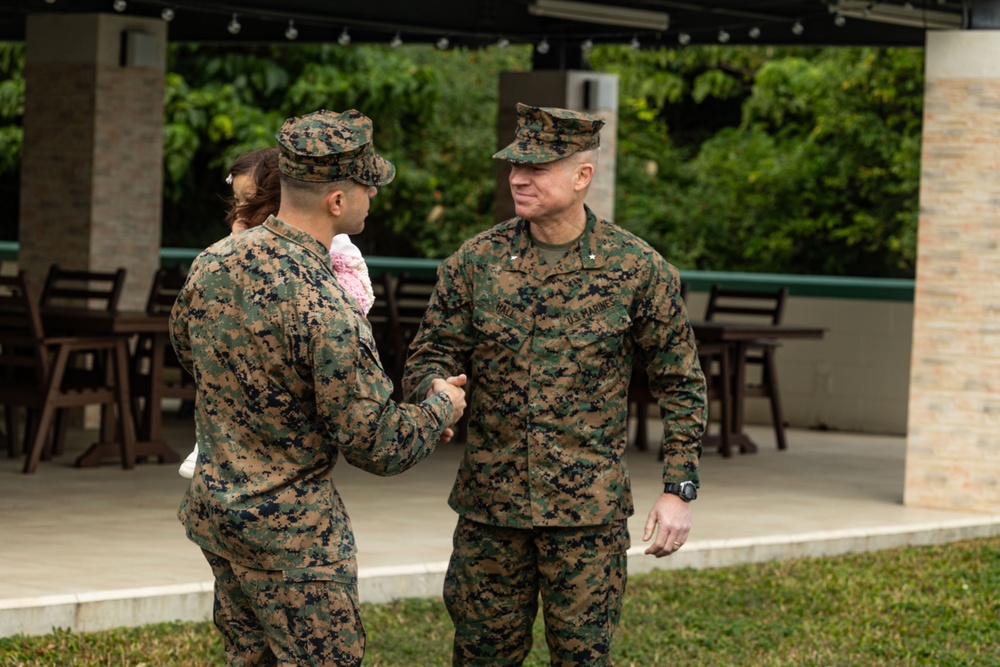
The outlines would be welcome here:
<svg viewBox="0 0 1000 667">
<path fill-rule="evenodd" d="M 153 284 L 146 300 L 146 312 L 167 317 L 177 294 L 184 286 L 186 276 L 179 268 L 161 268 L 153 276 Z M 158 363 L 155 363 L 158 361 Z M 133 414 L 139 440 L 149 440 L 158 433 L 162 418 L 162 400 L 179 398 L 182 409 L 194 402 L 197 391 L 194 378 L 181 366 L 164 333 L 141 334 L 132 353 Z M 138 405 L 142 398 L 142 406 Z"/>
</svg>

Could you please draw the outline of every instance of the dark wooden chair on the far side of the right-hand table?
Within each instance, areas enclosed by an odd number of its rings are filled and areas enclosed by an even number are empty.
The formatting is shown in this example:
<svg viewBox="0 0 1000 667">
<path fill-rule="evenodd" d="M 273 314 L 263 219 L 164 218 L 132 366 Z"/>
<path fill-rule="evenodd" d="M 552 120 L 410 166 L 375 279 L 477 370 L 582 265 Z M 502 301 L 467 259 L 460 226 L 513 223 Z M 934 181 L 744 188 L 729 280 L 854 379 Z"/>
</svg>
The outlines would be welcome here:
<svg viewBox="0 0 1000 667">
<path fill-rule="evenodd" d="M 705 310 L 705 320 L 709 322 L 727 320 L 760 322 L 763 320 L 770 324 L 781 324 L 787 297 L 787 287 L 778 290 L 757 291 L 725 289 L 719 285 L 713 285 L 708 297 L 708 307 Z M 742 387 L 733 387 L 734 395 L 740 397 L 740 400 L 735 402 L 733 409 L 742 415 L 743 398 L 767 398 L 771 406 L 771 421 L 774 424 L 774 436 L 778 449 L 787 449 L 781 397 L 778 390 L 778 373 L 774 362 L 775 352 L 780 345 L 780 341 L 771 339 L 757 339 L 745 344 L 744 367 L 732 369 L 734 377 L 742 376 L 744 378 Z M 747 370 L 752 368 L 755 369 L 755 372 L 747 373 Z M 737 418 L 735 421 L 742 423 L 742 418 Z"/>
</svg>

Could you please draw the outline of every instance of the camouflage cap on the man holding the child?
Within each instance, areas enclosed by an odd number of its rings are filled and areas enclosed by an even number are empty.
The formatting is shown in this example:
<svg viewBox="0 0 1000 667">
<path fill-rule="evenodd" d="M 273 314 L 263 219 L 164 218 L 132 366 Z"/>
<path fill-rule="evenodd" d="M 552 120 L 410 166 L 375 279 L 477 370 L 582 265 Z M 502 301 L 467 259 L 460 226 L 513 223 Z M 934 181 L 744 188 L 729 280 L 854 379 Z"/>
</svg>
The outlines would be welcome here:
<svg viewBox="0 0 1000 667">
<path fill-rule="evenodd" d="M 353 178 L 365 185 L 392 181 L 396 168 L 375 153 L 372 122 L 360 111 L 316 111 L 289 118 L 277 134 L 278 169 L 300 181 Z"/>
</svg>

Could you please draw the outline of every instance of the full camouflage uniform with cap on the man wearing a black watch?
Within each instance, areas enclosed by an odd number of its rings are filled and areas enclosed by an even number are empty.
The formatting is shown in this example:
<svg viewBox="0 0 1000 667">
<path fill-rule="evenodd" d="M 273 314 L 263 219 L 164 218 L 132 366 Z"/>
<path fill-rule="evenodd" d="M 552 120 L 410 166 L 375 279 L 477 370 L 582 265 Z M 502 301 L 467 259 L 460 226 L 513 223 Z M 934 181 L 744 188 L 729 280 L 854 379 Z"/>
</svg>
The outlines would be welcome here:
<svg viewBox="0 0 1000 667">
<path fill-rule="evenodd" d="M 519 105 L 498 157 L 596 147 L 600 121 Z M 410 348 L 406 396 L 469 374 L 469 435 L 445 598 L 454 664 L 517 665 L 541 592 L 553 664 L 607 664 L 626 578 L 628 384 L 640 355 L 663 413 L 664 483 L 698 483 L 705 381 L 680 280 L 649 245 L 586 209 L 578 244 L 541 261 L 514 218 L 443 262 Z"/>
</svg>

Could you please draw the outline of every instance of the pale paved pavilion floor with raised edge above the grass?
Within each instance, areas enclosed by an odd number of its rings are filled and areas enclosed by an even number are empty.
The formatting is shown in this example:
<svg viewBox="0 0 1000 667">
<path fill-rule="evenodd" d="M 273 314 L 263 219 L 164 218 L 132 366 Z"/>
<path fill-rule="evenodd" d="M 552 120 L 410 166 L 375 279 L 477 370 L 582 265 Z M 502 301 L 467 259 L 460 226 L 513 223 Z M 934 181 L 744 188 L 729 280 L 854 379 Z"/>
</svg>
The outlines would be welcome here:
<svg viewBox="0 0 1000 667">
<path fill-rule="evenodd" d="M 186 454 L 192 424 L 168 416 L 166 433 Z M 705 455 L 690 540 L 661 560 L 642 555 L 641 542 L 660 465 L 652 452 L 630 452 L 637 509 L 630 572 L 1000 534 L 1000 516 L 903 506 L 902 437 L 793 429 L 789 449 L 778 452 L 770 428 L 750 433 L 756 454 Z M 173 465 L 74 468 L 93 433 L 73 436 L 67 453 L 34 475 L 20 473 L 21 461 L 0 459 L 0 636 L 207 618 L 211 574 L 175 517 L 187 480 Z M 395 478 L 338 465 L 363 600 L 439 594 L 455 524 L 446 499 L 460 453 L 441 446 Z"/>
</svg>

